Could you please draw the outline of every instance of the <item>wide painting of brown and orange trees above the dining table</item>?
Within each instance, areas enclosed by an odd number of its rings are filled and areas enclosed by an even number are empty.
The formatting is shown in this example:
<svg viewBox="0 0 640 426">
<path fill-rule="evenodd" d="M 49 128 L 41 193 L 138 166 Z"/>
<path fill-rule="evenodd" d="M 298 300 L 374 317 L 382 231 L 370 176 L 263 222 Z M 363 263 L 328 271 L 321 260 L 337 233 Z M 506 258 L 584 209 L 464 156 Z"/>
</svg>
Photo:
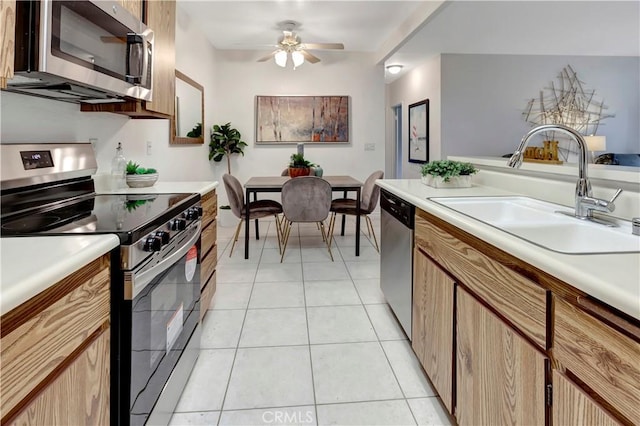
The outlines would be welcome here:
<svg viewBox="0 0 640 426">
<path fill-rule="evenodd" d="M 348 96 L 256 96 L 256 144 L 349 143 Z"/>
</svg>

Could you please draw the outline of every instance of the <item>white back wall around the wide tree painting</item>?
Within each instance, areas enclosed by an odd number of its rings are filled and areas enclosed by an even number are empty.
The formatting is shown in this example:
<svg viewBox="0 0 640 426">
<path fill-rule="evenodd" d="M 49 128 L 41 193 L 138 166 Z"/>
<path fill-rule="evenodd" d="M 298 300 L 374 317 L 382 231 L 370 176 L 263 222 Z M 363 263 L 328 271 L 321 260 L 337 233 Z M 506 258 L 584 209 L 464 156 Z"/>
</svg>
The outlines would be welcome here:
<svg viewBox="0 0 640 426">
<path fill-rule="evenodd" d="M 273 61 L 256 62 L 264 52 L 218 51 L 212 124 L 231 125 L 248 144 L 244 157 L 234 155 L 231 171 L 241 182 L 251 176 L 279 175 L 296 152 L 296 144 L 255 144 L 257 95 L 346 95 L 350 108 L 350 143 L 305 144 L 307 160 L 320 164 L 325 174 L 351 175 L 364 180 L 384 167 L 384 72 L 369 54 L 318 52 L 319 64 L 305 63 L 296 70 Z M 375 144 L 365 151 L 365 144 Z M 226 161 L 215 163 L 219 180 Z M 224 190 L 219 192 L 225 202 Z"/>
</svg>

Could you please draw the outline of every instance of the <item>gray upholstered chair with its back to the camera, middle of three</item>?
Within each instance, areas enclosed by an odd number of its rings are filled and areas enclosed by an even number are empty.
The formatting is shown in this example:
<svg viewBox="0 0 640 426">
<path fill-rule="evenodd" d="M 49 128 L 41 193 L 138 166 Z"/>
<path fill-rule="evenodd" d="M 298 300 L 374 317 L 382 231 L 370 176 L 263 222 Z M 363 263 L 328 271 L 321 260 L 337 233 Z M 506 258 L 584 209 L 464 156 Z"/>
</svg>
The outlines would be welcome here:
<svg viewBox="0 0 640 426">
<path fill-rule="evenodd" d="M 282 185 L 282 225 L 283 243 L 280 262 L 284 259 L 287 242 L 294 222 L 315 222 L 322 232 L 322 240 L 327 244 L 329 257 L 331 241 L 324 229 L 324 220 L 329 216 L 331 207 L 331 185 L 326 180 L 315 176 L 301 176 L 290 179 Z"/>
</svg>

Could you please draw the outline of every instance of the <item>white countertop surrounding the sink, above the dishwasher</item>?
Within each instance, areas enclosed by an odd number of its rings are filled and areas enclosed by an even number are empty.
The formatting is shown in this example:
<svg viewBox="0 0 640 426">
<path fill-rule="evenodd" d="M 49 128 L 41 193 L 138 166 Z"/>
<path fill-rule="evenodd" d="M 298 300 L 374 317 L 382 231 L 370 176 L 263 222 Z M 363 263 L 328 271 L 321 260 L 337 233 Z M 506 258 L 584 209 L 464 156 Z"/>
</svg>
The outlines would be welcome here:
<svg viewBox="0 0 640 426">
<path fill-rule="evenodd" d="M 436 189 L 424 185 L 419 179 L 384 179 L 377 183 L 416 207 L 640 319 L 640 253 L 588 255 L 557 253 L 427 199 L 428 197 L 514 195 L 513 192 L 499 188 L 473 186 L 472 188 Z"/>
</svg>

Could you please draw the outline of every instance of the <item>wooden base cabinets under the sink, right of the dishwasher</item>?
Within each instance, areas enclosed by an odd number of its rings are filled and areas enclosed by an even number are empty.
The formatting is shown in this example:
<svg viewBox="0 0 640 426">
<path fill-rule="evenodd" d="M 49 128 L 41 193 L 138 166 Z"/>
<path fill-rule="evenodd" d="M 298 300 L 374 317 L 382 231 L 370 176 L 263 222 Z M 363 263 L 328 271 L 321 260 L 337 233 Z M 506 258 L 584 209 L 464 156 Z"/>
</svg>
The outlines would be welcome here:
<svg viewBox="0 0 640 426">
<path fill-rule="evenodd" d="M 640 424 L 639 321 L 427 212 L 415 224 L 412 346 L 460 425 Z M 450 318 L 452 343 L 434 331 Z"/>
</svg>

